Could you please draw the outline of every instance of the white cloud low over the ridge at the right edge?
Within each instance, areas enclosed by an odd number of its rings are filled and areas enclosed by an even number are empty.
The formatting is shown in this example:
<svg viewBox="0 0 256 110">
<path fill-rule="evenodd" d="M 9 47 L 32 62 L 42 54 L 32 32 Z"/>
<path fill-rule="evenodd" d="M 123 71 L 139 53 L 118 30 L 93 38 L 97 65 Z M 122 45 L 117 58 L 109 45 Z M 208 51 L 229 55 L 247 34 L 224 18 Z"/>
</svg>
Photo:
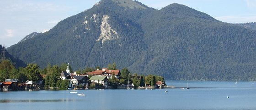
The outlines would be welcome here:
<svg viewBox="0 0 256 110">
<path fill-rule="evenodd" d="M 256 22 L 256 15 L 233 15 L 233 16 L 219 16 L 214 18 L 227 23 Z"/>
</svg>

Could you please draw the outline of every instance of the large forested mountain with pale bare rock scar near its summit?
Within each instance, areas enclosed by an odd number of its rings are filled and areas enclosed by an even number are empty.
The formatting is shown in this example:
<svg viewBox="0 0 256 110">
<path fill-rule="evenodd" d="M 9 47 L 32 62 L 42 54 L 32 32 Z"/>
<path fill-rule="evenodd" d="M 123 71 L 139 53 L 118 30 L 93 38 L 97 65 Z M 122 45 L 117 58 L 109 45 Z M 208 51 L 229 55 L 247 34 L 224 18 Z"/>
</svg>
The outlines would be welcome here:
<svg viewBox="0 0 256 110">
<path fill-rule="evenodd" d="M 8 51 L 40 67 L 116 62 L 169 80 L 256 80 L 256 31 L 180 4 L 156 10 L 135 0 L 101 0 Z"/>
</svg>

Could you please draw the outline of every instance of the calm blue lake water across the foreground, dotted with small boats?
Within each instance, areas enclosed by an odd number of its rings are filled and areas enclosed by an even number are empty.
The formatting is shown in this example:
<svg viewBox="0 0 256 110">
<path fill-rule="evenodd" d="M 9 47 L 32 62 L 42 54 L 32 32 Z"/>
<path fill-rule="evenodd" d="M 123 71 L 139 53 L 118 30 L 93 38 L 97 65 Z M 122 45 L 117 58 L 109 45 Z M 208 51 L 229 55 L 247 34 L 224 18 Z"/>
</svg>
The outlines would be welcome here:
<svg viewBox="0 0 256 110">
<path fill-rule="evenodd" d="M 187 87 L 187 81 L 166 84 Z M 0 92 L 0 110 L 256 110 L 256 82 L 189 81 L 188 86 L 191 89 L 77 90 L 86 96 L 69 90 Z"/>
</svg>

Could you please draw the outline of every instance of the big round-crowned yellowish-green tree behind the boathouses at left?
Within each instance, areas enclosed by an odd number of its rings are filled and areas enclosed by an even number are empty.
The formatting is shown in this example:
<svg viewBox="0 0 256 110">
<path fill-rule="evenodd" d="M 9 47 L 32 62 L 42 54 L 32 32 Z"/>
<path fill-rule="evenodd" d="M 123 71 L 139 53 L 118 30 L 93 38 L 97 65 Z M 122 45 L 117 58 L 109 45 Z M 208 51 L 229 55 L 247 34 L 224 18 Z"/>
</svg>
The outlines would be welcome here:
<svg viewBox="0 0 256 110">
<path fill-rule="evenodd" d="M 27 80 L 37 81 L 40 75 L 40 69 L 37 64 L 28 64 L 24 70 Z"/>
</svg>

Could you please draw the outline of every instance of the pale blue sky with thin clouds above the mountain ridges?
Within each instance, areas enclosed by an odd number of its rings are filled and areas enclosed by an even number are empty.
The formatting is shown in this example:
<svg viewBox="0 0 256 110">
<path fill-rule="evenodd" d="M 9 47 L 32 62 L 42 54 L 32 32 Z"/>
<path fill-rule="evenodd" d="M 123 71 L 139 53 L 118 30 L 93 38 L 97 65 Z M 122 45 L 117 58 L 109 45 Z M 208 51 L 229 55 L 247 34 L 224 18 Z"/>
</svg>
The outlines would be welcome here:
<svg viewBox="0 0 256 110">
<path fill-rule="evenodd" d="M 46 32 L 59 21 L 92 8 L 100 0 L 0 0 L 0 44 L 10 47 L 32 32 Z M 227 23 L 256 22 L 256 0 L 138 0 L 160 10 L 187 5 Z"/>
</svg>

